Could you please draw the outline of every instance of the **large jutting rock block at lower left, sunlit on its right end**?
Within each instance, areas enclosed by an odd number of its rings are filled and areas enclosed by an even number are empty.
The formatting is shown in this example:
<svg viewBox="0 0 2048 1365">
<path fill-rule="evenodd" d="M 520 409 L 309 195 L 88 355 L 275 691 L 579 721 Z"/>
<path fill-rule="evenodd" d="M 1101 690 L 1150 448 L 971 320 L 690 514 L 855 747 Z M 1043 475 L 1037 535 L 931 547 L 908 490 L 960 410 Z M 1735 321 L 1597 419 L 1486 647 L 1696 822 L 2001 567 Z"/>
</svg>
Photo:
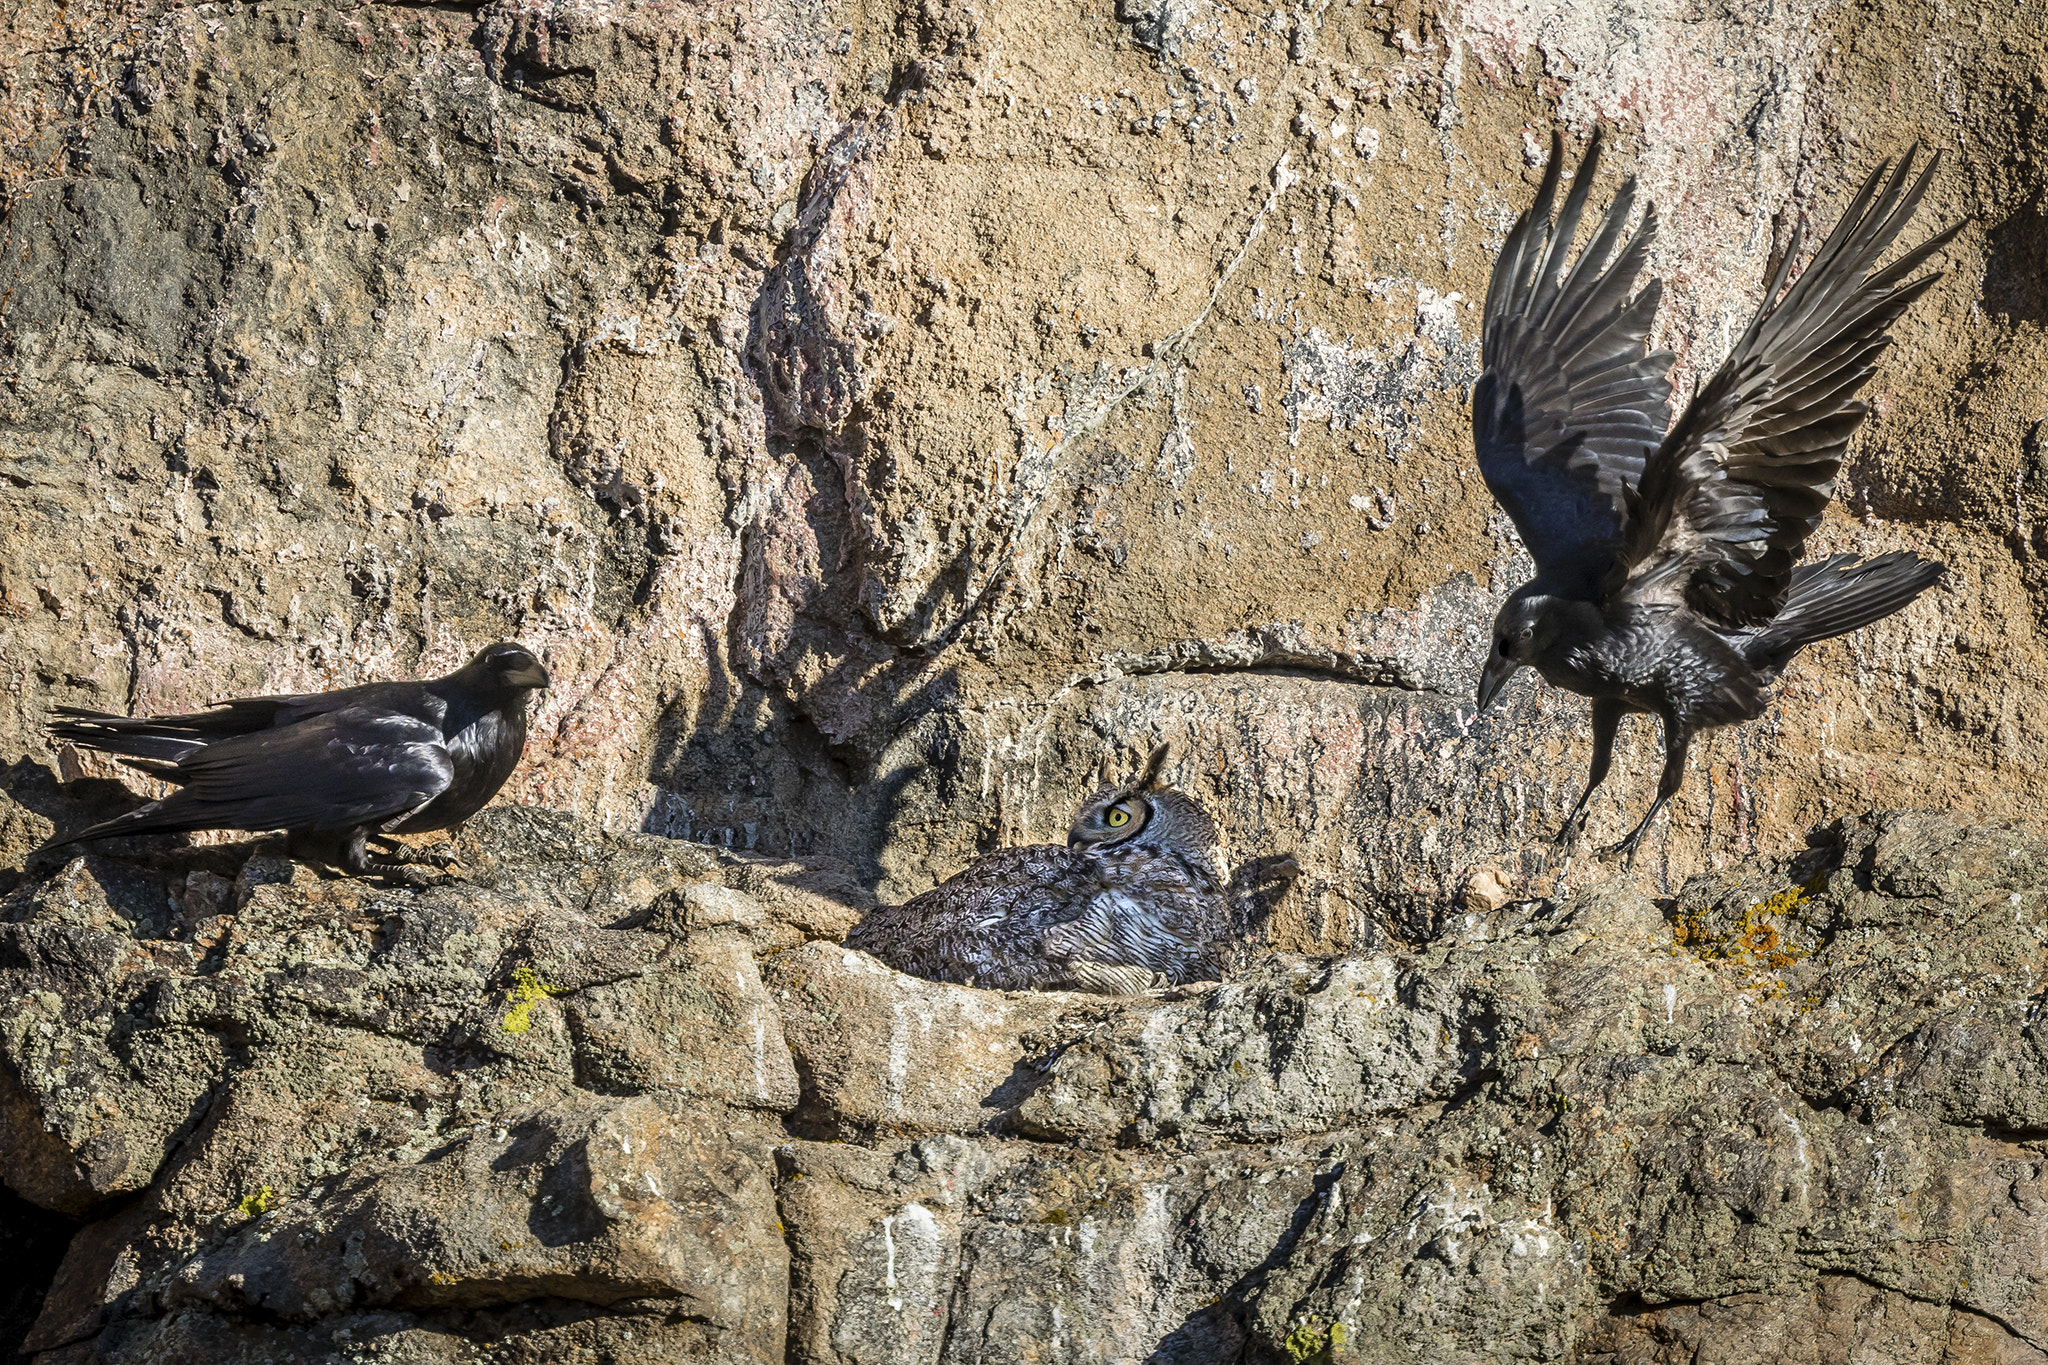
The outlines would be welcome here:
<svg viewBox="0 0 2048 1365">
<path fill-rule="evenodd" d="M 504 1113 L 418 1162 L 342 1175 L 170 1273 L 170 1310 L 309 1322 L 362 1308 L 674 1300 L 778 1359 L 768 1175 L 717 1113 L 651 1097 Z"/>
</svg>

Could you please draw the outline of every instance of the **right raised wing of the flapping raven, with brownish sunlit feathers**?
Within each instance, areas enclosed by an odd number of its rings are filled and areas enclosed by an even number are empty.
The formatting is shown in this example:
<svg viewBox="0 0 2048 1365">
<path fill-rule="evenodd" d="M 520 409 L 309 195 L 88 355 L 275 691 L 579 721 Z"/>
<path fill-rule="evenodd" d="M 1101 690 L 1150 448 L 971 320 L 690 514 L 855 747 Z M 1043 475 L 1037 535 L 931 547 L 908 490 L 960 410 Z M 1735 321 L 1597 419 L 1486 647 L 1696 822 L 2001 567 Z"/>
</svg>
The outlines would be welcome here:
<svg viewBox="0 0 2048 1365">
<path fill-rule="evenodd" d="M 1935 153 L 1911 180 L 1907 151 L 1888 182 L 1892 164 L 1878 166 L 1786 289 L 1794 235 L 1749 329 L 1651 456 L 1610 593 L 1638 606 L 1683 602 L 1726 626 L 1778 614 L 1870 411 L 1853 395 L 1890 346 L 1890 325 L 1942 278 L 1907 276 L 1962 231 L 1956 223 L 1876 270 L 1939 164 Z"/>
</svg>

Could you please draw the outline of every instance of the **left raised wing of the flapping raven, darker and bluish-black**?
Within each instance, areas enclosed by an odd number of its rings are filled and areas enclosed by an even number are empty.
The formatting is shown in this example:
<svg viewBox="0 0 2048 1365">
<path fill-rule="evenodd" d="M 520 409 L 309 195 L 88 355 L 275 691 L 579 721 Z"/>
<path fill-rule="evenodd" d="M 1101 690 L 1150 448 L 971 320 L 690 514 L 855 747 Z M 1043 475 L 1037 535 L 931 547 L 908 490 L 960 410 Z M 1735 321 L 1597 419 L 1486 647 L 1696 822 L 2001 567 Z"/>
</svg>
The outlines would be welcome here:
<svg viewBox="0 0 2048 1365">
<path fill-rule="evenodd" d="M 1634 180 L 1622 184 L 1593 241 L 1565 272 L 1599 151 L 1595 133 L 1552 225 L 1565 141 L 1550 133 L 1536 203 L 1493 262 L 1487 368 L 1473 387 L 1479 473 L 1513 518 L 1538 575 L 1585 596 L 1620 553 L 1626 491 L 1671 424 L 1671 354 L 1651 352 L 1647 342 L 1663 287 L 1653 278 L 1628 297 L 1657 239 L 1655 209 L 1602 268 L 1634 207 Z"/>
</svg>

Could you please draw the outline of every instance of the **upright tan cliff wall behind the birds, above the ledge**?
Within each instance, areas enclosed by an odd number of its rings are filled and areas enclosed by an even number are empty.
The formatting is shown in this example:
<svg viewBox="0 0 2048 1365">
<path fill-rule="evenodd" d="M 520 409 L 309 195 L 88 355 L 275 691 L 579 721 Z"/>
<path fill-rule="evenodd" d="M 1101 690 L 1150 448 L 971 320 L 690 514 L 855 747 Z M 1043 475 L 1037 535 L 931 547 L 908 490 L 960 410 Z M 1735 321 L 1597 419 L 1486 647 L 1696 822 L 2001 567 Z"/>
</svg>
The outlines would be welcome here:
<svg viewBox="0 0 2048 1365">
<path fill-rule="evenodd" d="M 33 0 L 0 25 L 0 757 L 51 702 L 440 669 L 520 636 L 512 798 L 889 898 L 1178 745 L 1280 941 L 1518 892 L 1583 702 L 1475 720 L 1524 569 L 1475 299 L 1544 131 L 1610 125 L 1710 366 L 1798 221 L 1948 153 L 1817 548 L 1948 585 L 1702 745 L 1642 860 L 2048 796 L 2025 6 Z M 1593 837 L 1649 800 L 1630 726 Z M 82 769 L 76 769 L 82 772 Z M 1548 874 L 1544 874 L 1548 876 Z M 1577 876 L 1577 872 L 1575 872 Z"/>
</svg>

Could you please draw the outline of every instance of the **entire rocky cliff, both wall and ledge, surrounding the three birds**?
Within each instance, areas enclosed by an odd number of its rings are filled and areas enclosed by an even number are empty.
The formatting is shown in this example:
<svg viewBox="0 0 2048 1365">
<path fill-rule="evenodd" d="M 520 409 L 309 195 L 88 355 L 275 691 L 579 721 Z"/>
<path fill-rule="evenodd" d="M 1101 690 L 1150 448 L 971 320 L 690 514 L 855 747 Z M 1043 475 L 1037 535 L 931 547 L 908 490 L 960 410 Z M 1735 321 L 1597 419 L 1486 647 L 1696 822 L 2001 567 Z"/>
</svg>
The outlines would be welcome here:
<svg viewBox="0 0 2048 1365">
<path fill-rule="evenodd" d="M 0 1314 L 47 1365 L 2042 1359 L 2042 51 L 1989 0 L 8 6 Z M 1880 156 L 1968 219 L 1817 538 L 1946 585 L 1622 880 L 1540 857 L 1583 702 L 1470 706 L 1526 571 L 1475 301 L 1559 121 L 1663 215 L 1681 385 Z M 459 886 L 33 855 L 133 800 L 51 704 L 504 636 L 557 686 Z M 1298 855 L 1278 956 L 838 945 L 1161 739 Z"/>
</svg>

